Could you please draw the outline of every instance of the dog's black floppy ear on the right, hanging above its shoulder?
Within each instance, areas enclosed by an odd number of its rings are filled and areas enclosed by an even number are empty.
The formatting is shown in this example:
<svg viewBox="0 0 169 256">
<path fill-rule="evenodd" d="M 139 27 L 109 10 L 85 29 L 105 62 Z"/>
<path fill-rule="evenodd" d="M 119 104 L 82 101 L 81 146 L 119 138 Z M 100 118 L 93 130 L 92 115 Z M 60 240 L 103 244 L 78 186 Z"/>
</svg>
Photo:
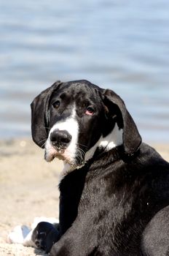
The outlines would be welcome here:
<svg viewBox="0 0 169 256">
<path fill-rule="evenodd" d="M 119 128 L 123 129 L 122 140 L 125 155 L 133 155 L 141 145 L 141 135 L 125 103 L 119 95 L 109 89 L 103 91 L 103 103 L 106 105 L 108 118 L 114 118 Z"/>
</svg>

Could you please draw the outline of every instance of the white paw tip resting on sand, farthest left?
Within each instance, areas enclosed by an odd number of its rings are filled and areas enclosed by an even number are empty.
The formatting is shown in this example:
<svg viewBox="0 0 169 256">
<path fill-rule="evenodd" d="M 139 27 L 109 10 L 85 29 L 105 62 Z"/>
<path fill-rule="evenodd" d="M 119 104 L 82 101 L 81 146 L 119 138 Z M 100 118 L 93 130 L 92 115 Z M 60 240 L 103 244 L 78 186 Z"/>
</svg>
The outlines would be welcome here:
<svg viewBox="0 0 169 256">
<path fill-rule="evenodd" d="M 9 233 L 7 240 L 10 244 L 23 244 L 30 231 L 31 229 L 25 225 L 17 226 L 11 233 Z"/>
</svg>

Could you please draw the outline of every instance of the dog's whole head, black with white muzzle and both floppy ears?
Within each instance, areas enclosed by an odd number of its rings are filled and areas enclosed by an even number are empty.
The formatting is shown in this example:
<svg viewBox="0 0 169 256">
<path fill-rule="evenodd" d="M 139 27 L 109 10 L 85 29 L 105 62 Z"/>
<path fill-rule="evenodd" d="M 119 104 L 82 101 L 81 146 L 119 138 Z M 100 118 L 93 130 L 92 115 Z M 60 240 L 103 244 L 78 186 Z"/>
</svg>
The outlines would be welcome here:
<svg viewBox="0 0 169 256">
<path fill-rule="evenodd" d="M 49 162 L 58 157 L 77 167 L 96 148 L 122 145 L 124 154 L 132 155 L 141 144 L 122 99 L 87 80 L 54 83 L 34 99 L 31 110 L 33 140 L 45 148 Z"/>
</svg>

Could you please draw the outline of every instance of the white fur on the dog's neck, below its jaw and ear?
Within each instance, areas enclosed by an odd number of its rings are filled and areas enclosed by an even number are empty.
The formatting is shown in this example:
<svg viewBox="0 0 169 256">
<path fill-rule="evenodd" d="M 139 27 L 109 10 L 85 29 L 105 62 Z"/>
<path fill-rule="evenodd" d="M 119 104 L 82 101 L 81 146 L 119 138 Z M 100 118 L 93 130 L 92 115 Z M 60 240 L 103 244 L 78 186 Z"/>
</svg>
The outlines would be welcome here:
<svg viewBox="0 0 169 256">
<path fill-rule="evenodd" d="M 64 176 L 66 176 L 71 171 L 83 167 L 86 162 L 88 162 L 90 159 L 93 158 L 97 149 L 98 149 L 98 151 L 106 152 L 106 151 L 110 151 L 112 148 L 121 146 L 122 145 L 122 132 L 123 132 L 122 129 L 119 129 L 119 127 L 117 126 L 117 123 L 116 123 L 114 125 L 114 129 L 109 133 L 109 135 L 106 135 L 106 137 L 104 137 L 104 138 L 103 138 L 103 136 L 101 136 L 101 138 L 98 140 L 98 142 L 95 143 L 95 145 L 92 148 L 90 148 L 89 151 L 86 152 L 83 165 L 74 167 L 74 166 L 71 166 L 70 164 L 68 164 L 67 162 L 64 162 L 63 170 L 60 173 L 60 181 L 64 178 Z"/>
</svg>

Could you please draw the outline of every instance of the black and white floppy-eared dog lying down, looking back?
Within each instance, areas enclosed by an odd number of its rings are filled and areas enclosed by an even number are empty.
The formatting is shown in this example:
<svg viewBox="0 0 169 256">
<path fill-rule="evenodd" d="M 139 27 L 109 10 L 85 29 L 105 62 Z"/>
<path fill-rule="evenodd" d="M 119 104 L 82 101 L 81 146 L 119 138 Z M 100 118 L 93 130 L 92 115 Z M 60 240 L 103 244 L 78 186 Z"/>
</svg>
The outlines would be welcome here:
<svg viewBox="0 0 169 256">
<path fill-rule="evenodd" d="M 65 162 L 59 228 L 42 222 L 32 239 L 57 256 L 169 255 L 169 164 L 141 143 L 122 99 L 56 82 L 31 109 L 34 142 Z"/>
</svg>

